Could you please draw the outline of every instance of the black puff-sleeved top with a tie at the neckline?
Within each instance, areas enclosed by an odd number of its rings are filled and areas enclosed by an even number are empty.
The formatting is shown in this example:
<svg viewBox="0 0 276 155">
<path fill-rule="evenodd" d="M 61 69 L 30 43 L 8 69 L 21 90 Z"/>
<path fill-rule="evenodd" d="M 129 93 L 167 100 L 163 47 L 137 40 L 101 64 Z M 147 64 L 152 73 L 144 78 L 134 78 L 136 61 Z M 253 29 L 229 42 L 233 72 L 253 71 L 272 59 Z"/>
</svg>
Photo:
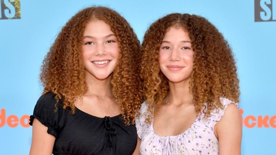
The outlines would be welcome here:
<svg viewBox="0 0 276 155">
<path fill-rule="evenodd" d="M 53 154 L 128 155 L 134 151 L 137 143 L 135 125 L 125 126 L 121 115 L 100 118 L 78 108 L 72 115 L 62 108 L 61 100 L 54 112 L 55 103 L 54 94 L 41 96 L 30 116 L 30 125 L 36 118 L 48 127 L 49 134 L 55 136 Z"/>
</svg>

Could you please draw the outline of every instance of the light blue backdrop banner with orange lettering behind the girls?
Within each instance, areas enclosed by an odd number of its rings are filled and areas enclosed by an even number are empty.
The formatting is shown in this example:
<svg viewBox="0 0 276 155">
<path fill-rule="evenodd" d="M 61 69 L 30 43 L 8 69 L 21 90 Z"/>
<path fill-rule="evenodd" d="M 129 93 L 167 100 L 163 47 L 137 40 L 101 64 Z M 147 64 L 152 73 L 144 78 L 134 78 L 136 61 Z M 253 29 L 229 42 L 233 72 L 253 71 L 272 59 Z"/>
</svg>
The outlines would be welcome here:
<svg viewBox="0 0 276 155">
<path fill-rule="evenodd" d="M 237 61 L 241 153 L 276 154 L 276 0 L 1 0 L 0 154 L 29 153 L 28 119 L 43 90 L 42 60 L 62 26 L 91 5 L 118 11 L 140 41 L 148 26 L 168 13 L 197 14 L 212 22 Z"/>
</svg>

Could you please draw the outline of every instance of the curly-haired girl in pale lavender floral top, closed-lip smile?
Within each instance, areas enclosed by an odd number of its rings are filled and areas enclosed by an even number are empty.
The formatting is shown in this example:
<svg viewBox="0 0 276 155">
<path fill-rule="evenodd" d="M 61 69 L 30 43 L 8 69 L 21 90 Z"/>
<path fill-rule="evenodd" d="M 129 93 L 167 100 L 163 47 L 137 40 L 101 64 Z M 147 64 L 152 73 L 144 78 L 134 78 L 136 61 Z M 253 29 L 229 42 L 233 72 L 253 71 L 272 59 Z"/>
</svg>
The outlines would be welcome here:
<svg viewBox="0 0 276 155">
<path fill-rule="evenodd" d="M 140 153 L 240 154 L 239 80 L 231 48 L 208 20 L 173 13 L 142 43 Z"/>
</svg>

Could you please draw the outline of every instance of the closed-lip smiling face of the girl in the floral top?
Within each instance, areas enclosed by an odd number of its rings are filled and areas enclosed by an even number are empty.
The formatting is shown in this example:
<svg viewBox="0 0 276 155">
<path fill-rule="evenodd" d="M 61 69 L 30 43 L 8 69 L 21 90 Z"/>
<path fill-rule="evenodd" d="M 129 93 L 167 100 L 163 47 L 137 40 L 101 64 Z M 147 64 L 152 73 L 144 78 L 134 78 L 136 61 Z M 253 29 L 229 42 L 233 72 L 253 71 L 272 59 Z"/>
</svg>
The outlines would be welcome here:
<svg viewBox="0 0 276 155">
<path fill-rule="evenodd" d="M 160 70 L 170 82 L 189 80 L 193 71 L 193 49 L 187 31 L 168 28 L 159 52 Z"/>
</svg>

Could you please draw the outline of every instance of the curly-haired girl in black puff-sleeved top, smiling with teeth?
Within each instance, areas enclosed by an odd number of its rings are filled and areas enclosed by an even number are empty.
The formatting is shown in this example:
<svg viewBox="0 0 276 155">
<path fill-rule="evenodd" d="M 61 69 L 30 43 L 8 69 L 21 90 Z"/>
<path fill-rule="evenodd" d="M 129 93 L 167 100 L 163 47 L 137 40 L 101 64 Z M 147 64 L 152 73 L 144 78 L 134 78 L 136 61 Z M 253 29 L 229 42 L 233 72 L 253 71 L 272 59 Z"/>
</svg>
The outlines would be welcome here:
<svg viewBox="0 0 276 155">
<path fill-rule="evenodd" d="M 73 16 L 43 61 L 30 154 L 139 154 L 139 52 L 116 11 L 89 7 Z"/>
</svg>

